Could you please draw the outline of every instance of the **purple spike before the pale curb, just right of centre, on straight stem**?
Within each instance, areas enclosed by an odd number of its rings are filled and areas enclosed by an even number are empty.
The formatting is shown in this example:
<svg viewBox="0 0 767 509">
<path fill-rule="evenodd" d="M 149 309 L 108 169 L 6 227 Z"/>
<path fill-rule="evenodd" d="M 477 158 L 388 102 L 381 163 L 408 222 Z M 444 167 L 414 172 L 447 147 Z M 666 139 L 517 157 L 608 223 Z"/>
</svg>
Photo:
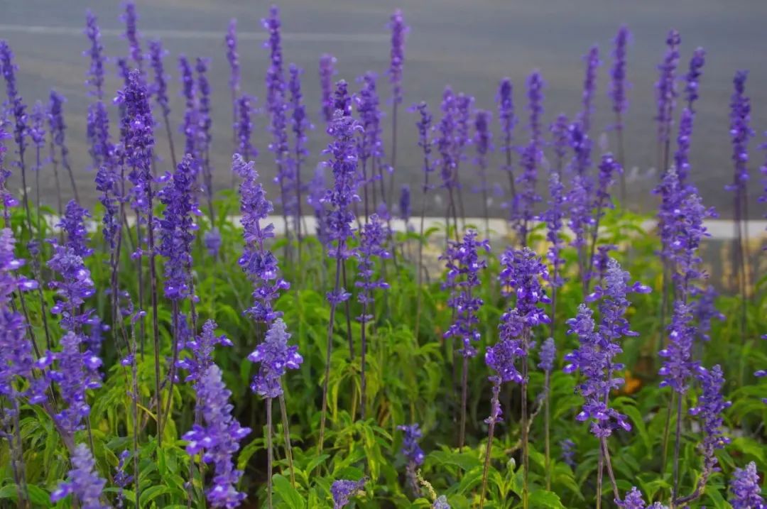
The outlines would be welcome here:
<svg viewBox="0 0 767 509">
<path fill-rule="evenodd" d="M 476 356 L 472 341 L 479 341 L 477 312 L 483 301 L 472 294 L 479 287 L 479 271 L 487 267 L 487 261 L 479 257 L 479 249 L 490 251 L 490 242 L 478 241 L 477 232 L 466 231 L 463 241 L 449 241 L 445 254 L 440 259 L 446 261 L 447 274 L 443 288 L 450 289 L 448 307 L 455 310 L 454 321 L 443 337 L 455 337 L 462 343 L 458 350 L 464 357 Z"/>
</svg>

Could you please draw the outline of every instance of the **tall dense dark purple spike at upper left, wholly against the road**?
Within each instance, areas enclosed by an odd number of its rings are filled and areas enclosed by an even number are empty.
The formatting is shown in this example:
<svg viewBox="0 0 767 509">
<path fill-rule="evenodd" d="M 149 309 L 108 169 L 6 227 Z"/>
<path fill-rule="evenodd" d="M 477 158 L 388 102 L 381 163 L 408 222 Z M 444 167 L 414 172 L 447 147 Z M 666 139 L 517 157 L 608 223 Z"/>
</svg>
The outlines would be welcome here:
<svg viewBox="0 0 767 509">
<path fill-rule="evenodd" d="M 123 146 L 130 167 L 128 179 L 133 183 L 131 205 L 137 212 L 148 214 L 152 207 L 154 119 L 139 71 L 130 71 L 127 86 L 117 92 L 116 101 L 125 107 Z"/>
</svg>

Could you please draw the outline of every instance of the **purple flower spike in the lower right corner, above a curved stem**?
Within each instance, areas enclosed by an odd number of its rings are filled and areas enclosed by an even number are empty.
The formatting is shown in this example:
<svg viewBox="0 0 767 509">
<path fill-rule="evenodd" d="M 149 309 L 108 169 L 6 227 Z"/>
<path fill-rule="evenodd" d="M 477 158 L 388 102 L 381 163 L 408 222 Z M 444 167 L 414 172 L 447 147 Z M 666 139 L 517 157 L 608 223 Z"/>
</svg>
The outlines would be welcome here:
<svg viewBox="0 0 767 509">
<path fill-rule="evenodd" d="M 724 448 L 729 444 L 729 438 L 722 433 L 724 422 L 722 414 L 731 403 L 722 397 L 724 376 L 719 364 L 711 369 L 698 366 L 697 371 L 697 379 L 703 386 L 703 394 L 698 398 L 697 406 L 690 409 L 690 415 L 696 415 L 701 421 L 703 442 L 700 444 L 700 451 L 703 452 L 704 475 L 708 477 L 716 468 L 716 449 Z"/>
</svg>

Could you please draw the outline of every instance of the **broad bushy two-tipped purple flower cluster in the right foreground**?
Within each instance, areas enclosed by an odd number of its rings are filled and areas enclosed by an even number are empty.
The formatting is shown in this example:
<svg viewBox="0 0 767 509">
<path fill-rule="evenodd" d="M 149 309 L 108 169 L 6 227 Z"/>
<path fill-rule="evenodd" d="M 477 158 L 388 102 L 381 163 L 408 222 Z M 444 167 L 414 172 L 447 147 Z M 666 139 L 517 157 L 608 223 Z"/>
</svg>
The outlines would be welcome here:
<svg viewBox="0 0 767 509">
<path fill-rule="evenodd" d="M 630 304 L 626 298 L 627 294 L 645 294 L 649 291 L 649 287 L 639 282 L 630 284 L 629 274 L 621 269 L 617 261 L 611 259 L 604 285 L 597 286 L 594 294 L 588 296 L 589 301 L 599 300 L 599 326 L 595 327 L 594 312 L 586 304 L 581 304 L 578 307 L 578 316 L 567 322 L 570 327 L 568 333 L 577 334 L 581 343 L 577 350 L 565 356 L 568 361 L 565 373 L 578 370 L 584 377 L 583 382 L 576 387 L 585 400 L 583 410 L 576 419 L 594 419 L 591 432 L 597 438 L 607 437 L 619 427 L 631 429 L 626 416 L 610 408 L 608 396 L 611 390 L 624 383 L 622 378 L 615 376 L 623 369 L 621 363 L 614 361 L 623 351 L 618 340 L 621 337 L 637 335 L 629 329 L 628 321 L 624 317 Z"/>
</svg>

